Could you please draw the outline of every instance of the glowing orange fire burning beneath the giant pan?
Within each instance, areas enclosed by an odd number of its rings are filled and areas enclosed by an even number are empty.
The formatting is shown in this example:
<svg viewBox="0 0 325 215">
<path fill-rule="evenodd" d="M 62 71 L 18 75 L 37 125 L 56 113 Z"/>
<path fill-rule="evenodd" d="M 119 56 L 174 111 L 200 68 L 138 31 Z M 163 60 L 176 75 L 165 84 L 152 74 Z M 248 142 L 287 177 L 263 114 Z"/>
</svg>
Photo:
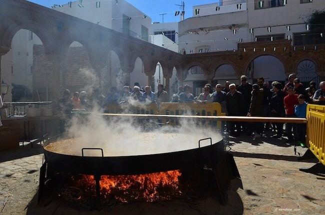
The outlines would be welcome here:
<svg viewBox="0 0 325 215">
<path fill-rule="evenodd" d="M 181 195 L 178 181 L 180 176 L 181 173 L 178 170 L 143 175 L 101 176 L 100 199 L 115 200 L 119 203 L 169 200 Z M 80 175 L 72 181 L 74 190 L 83 190 L 83 194 L 76 193 L 71 197 L 71 189 L 68 189 L 71 188 L 70 185 L 66 187 L 67 189 L 61 190 L 59 196 L 66 199 L 68 195 L 68 198 L 74 198 L 72 201 L 75 202 L 82 202 L 84 198 L 95 196 L 94 176 Z"/>
</svg>

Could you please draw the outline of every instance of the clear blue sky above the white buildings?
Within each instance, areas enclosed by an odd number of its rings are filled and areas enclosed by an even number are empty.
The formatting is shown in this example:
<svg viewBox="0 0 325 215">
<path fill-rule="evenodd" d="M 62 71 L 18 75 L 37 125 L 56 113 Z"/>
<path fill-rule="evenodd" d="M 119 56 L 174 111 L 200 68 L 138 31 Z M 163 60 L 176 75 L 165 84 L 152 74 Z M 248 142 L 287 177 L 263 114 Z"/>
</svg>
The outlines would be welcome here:
<svg viewBox="0 0 325 215">
<path fill-rule="evenodd" d="M 31 2 L 50 7 L 53 4 L 65 4 L 68 1 L 74 0 L 29 0 Z M 83 0 L 87 1 L 87 0 Z M 97 0 L 100 1 L 100 0 Z M 105 1 L 105 0 L 102 0 Z M 152 22 L 162 22 L 161 13 L 167 13 L 164 15 L 164 22 L 179 21 L 179 16 L 174 16 L 175 11 L 180 10 L 179 6 L 175 4 L 181 4 L 181 0 L 126 0 L 133 4 L 136 8 L 143 13 L 149 15 L 152 18 Z M 185 2 L 185 18 L 192 16 L 192 6 L 198 4 L 215 3 L 219 0 L 184 0 Z"/>
</svg>

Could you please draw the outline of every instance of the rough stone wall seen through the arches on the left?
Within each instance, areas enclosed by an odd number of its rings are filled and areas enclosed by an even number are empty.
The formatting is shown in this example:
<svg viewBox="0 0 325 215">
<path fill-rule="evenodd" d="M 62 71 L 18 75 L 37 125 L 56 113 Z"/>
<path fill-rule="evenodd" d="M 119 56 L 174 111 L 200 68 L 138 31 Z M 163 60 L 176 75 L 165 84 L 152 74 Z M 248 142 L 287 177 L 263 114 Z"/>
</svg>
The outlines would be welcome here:
<svg viewBox="0 0 325 215">
<path fill-rule="evenodd" d="M 34 100 L 51 100 L 51 77 L 52 63 L 44 52 L 42 45 L 34 45 L 33 51 L 33 98 Z M 100 71 L 101 79 L 108 79 L 107 67 Z M 80 47 L 69 47 L 66 57 L 64 58 L 63 69 L 60 74 L 60 83 L 57 87 L 69 89 L 70 92 L 87 91 L 96 88 L 94 69 L 90 65 L 86 50 Z M 102 81 L 104 84 L 107 81 Z M 47 91 L 47 92 L 46 92 Z"/>
</svg>

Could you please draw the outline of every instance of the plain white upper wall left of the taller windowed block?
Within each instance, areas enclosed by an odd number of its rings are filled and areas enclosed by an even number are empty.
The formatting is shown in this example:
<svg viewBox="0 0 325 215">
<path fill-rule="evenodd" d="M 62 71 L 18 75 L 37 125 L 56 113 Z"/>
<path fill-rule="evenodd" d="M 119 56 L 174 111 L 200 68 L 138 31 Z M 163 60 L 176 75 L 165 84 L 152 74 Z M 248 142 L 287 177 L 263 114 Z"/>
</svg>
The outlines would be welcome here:
<svg viewBox="0 0 325 215">
<path fill-rule="evenodd" d="M 236 29 L 236 34 L 233 34 Z M 200 47 L 210 52 L 233 50 L 239 39 L 250 41 L 246 11 L 197 16 L 179 22 L 178 44 L 181 53 L 196 53 Z M 227 40 L 224 40 L 224 37 Z"/>
</svg>

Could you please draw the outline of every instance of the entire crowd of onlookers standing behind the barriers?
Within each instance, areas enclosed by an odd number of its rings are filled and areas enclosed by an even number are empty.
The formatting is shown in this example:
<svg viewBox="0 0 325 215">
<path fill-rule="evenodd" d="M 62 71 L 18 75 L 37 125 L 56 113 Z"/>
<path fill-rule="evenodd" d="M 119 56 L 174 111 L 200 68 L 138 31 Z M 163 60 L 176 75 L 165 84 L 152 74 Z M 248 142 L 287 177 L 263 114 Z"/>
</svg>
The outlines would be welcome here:
<svg viewBox="0 0 325 215">
<path fill-rule="evenodd" d="M 216 84 L 213 88 L 210 84 L 203 87 L 203 92 L 194 97 L 188 85 L 179 86 L 177 93 L 169 100 L 168 93 L 162 84 L 158 84 L 157 91 L 152 92 L 150 86 L 141 87 L 137 82 L 133 88 L 123 86 L 118 90 L 111 87 L 109 93 L 104 96 L 99 90 L 94 90 L 91 95 L 85 91 L 74 92 L 70 96 L 69 90 L 65 90 L 59 101 L 58 107 L 62 112 L 70 112 L 71 109 L 90 109 L 94 103 L 105 108 L 111 103 L 155 103 L 159 106 L 161 102 L 179 103 L 209 103 L 218 102 L 221 111 L 228 116 L 260 116 L 260 117 L 306 117 L 306 104 L 313 103 L 325 105 L 325 81 L 320 82 L 319 89 L 315 82 L 311 81 L 305 88 L 295 74 L 288 76 L 288 82 L 282 86 L 280 82 L 273 81 L 271 87 L 264 82 L 263 77 L 257 78 L 256 84 L 250 84 L 247 77 L 240 77 L 240 85 L 226 81 L 224 85 Z M 247 135 L 264 135 L 265 129 L 272 128 L 274 138 L 283 135 L 283 123 L 228 123 L 228 131 L 232 136 L 238 136 L 241 132 Z M 295 139 L 301 145 L 305 143 L 305 124 L 293 125 L 286 123 L 287 142 L 292 143 Z"/>
</svg>

